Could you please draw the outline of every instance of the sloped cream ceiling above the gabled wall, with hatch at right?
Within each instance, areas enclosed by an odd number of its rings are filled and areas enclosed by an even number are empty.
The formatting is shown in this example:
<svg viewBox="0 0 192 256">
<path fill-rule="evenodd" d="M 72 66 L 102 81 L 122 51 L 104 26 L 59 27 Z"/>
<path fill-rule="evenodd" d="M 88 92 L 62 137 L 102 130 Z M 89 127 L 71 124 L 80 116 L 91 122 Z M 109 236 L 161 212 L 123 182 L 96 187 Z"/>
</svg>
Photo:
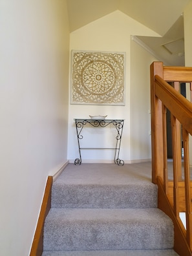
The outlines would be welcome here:
<svg viewBox="0 0 192 256">
<path fill-rule="evenodd" d="M 192 0 L 67 0 L 70 32 L 120 10 L 160 37 L 137 39 L 165 65 L 184 65 L 184 8 Z M 174 42 L 174 43 L 173 43 Z M 163 46 L 164 45 L 164 46 Z"/>
</svg>

